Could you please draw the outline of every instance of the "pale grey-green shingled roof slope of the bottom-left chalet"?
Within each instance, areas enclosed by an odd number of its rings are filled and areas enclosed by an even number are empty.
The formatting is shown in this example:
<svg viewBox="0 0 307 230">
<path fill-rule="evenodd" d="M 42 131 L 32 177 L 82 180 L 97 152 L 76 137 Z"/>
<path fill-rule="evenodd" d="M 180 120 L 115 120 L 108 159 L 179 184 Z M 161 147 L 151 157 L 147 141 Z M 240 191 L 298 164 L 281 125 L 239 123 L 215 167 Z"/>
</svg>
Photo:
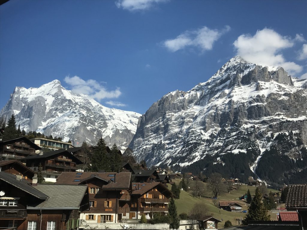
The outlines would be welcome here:
<svg viewBox="0 0 307 230">
<path fill-rule="evenodd" d="M 87 191 L 86 185 L 39 184 L 36 188 L 49 198 L 36 206 L 28 206 L 27 209 L 79 209 Z"/>
</svg>

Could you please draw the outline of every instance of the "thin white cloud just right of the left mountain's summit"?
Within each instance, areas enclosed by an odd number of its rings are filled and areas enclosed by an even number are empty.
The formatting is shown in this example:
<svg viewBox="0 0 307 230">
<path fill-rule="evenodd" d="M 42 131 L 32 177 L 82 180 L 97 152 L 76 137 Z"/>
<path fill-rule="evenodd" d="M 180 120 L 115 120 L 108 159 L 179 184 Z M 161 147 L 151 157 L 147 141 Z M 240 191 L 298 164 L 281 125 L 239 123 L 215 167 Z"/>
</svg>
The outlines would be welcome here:
<svg viewBox="0 0 307 230">
<path fill-rule="evenodd" d="M 118 98 L 122 94 L 119 88 L 108 91 L 104 86 L 100 85 L 99 82 L 92 79 L 84 81 L 78 76 L 66 76 L 64 81 L 72 87 L 74 93 L 86 94 L 97 100 L 104 98 Z"/>
</svg>

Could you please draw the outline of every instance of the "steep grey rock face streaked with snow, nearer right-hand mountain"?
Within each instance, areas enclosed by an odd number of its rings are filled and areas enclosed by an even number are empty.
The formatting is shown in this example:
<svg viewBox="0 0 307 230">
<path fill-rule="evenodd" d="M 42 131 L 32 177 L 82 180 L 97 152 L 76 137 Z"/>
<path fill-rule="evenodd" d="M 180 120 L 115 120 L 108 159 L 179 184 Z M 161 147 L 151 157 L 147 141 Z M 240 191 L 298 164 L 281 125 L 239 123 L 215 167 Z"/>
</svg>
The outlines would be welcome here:
<svg viewBox="0 0 307 230">
<path fill-rule="evenodd" d="M 307 144 L 306 84 L 282 67 L 259 66 L 236 56 L 207 82 L 153 103 L 139 119 L 129 148 L 148 165 L 180 166 L 206 155 L 253 148 L 249 166 L 255 171 L 278 134 L 292 131 L 300 144 L 280 151 L 298 158 Z"/>
</svg>

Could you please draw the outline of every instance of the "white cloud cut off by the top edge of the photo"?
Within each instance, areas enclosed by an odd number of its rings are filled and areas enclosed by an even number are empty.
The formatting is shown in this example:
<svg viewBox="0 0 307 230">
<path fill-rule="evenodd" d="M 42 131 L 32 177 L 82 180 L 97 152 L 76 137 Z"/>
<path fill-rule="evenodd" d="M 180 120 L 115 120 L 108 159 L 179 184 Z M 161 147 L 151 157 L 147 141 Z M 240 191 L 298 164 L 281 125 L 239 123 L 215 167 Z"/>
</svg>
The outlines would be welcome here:
<svg viewBox="0 0 307 230">
<path fill-rule="evenodd" d="M 165 0 L 118 0 L 115 5 L 118 8 L 129 11 L 142 11 L 152 8 L 155 4 L 166 2 Z"/>
</svg>

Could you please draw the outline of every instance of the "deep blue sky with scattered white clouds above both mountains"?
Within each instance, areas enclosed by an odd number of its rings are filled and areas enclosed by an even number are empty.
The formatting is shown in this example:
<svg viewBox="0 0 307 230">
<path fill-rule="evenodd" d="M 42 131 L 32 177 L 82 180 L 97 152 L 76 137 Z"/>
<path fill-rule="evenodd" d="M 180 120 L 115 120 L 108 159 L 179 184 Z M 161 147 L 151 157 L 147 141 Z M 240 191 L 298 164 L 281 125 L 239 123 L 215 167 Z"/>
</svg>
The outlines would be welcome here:
<svg viewBox="0 0 307 230">
<path fill-rule="evenodd" d="M 307 78 L 307 1 L 9 1 L 0 6 L 0 108 L 58 79 L 145 113 L 239 54 Z"/>
</svg>

